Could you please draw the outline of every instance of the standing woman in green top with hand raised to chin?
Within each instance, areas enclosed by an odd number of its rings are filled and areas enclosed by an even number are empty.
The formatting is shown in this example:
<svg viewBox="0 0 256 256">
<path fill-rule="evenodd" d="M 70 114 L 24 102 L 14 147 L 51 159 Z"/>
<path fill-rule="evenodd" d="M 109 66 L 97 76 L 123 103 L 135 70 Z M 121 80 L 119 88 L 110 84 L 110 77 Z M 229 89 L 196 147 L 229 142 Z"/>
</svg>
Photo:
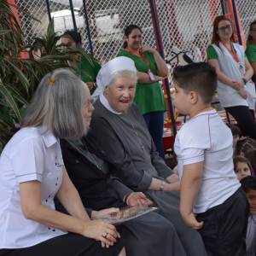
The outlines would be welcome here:
<svg viewBox="0 0 256 256">
<path fill-rule="evenodd" d="M 143 113 L 143 118 L 160 157 L 165 160 L 162 136 L 164 112 L 167 107 L 159 81 L 168 76 L 166 62 L 155 49 L 143 45 L 142 30 L 136 25 L 126 27 L 124 50 L 117 56 L 131 58 L 135 62 L 138 83 L 134 102 Z"/>
</svg>

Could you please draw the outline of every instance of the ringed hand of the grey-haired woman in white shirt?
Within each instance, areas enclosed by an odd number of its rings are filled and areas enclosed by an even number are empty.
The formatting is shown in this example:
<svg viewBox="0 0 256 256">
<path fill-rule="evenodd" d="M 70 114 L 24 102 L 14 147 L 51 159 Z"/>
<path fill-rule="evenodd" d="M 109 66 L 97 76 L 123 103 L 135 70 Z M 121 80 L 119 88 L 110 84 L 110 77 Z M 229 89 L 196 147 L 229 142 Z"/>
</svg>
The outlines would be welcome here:
<svg viewBox="0 0 256 256">
<path fill-rule="evenodd" d="M 102 219 L 85 222 L 81 235 L 102 241 L 102 247 L 106 246 L 107 248 L 113 246 L 116 239 L 121 237 L 113 224 L 108 224 Z"/>
</svg>

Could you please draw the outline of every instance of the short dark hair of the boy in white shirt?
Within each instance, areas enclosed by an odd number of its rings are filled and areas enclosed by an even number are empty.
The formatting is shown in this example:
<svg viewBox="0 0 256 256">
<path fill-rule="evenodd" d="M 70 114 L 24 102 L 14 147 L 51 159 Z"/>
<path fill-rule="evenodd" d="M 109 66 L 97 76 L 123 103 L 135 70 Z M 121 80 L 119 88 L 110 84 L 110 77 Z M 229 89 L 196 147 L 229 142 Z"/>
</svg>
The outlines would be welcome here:
<svg viewBox="0 0 256 256">
<path fill-rule="evenodd" d="M 195 91 L 205 104 L 211 103 L 217 90 L 217 73 L 210 63 L 199 62 L 177 66 L 173 71 L 174 81 L 185 93 Z"/>
</svg>

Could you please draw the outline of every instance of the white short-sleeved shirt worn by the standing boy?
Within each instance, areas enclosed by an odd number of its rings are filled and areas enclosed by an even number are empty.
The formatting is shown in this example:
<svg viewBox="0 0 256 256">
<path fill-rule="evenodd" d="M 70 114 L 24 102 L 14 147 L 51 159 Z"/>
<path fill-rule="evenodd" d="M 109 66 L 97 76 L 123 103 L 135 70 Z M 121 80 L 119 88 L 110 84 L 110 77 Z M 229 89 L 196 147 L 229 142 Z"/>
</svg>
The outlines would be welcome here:
<svg viewBox="0 0 256 256">
<path fill-rule="evenodd" d="M 180 179 L 183 166 L 204 161 L 193 212 L 206 212 L 222 204 L 240 188 L 234 172 L 232 144 L 230 128 L 215 109 L 199 113 L 177 133 L 174 150 Z"/>
</svg>

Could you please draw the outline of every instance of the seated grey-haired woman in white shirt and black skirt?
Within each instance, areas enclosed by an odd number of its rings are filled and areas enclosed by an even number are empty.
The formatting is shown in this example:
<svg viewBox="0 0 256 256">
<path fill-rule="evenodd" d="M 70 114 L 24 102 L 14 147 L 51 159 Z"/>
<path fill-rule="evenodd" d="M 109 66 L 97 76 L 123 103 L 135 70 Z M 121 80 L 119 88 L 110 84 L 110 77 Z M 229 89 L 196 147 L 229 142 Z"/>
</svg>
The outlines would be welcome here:
<svg viewBox="0 0 256 256">
<path fill-rule="evenodd" d="M 90 221 L 63 166 L 59 138 L 86 134 L 89 95 L 69 69 L 38 85 L 0 158 L 1 256 L 125 255 L 112 224 Z M 71 216 L 55 211 L 55 195 Z"/>
</svg>

